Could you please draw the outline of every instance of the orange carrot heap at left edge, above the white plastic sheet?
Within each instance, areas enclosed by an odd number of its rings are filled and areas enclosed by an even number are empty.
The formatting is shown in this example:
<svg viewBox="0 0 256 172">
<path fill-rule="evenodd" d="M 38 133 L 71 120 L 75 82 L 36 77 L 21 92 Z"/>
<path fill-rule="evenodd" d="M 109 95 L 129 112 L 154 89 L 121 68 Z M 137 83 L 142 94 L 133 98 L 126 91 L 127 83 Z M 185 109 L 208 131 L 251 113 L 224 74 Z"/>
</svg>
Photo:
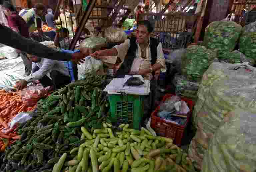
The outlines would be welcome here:
<svg viewBox="0 0 256 172">
<path fill-rule="evenodd" d="M 37 105 L 29 107 L 22 101 L 19 92 L 4 92 L 0 90 L 0 131 L 8 129 L 8 123 L 19 113 L 33 111 Z M 0 135 L 1 138 L 1 135 Z"/>
</svg>

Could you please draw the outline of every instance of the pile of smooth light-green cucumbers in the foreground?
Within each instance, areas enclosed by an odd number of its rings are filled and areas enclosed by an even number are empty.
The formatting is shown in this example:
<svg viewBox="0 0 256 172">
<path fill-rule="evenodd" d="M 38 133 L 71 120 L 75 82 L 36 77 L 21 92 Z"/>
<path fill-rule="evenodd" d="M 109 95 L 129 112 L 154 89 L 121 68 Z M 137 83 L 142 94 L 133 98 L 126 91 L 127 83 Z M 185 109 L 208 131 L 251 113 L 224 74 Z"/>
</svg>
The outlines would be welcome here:
<svg viewBox="0 0 256 172">
<path fill-rule="evenodd" d="M 81 139 L 86 142 L 64 153 L 52 172 L 194 172 L 187 154 L 173 144 L 172 139 L 155 137 L 147 129 L 113 132 L 107 125 L 92 132 L 81 127 Z"/>
</svg>

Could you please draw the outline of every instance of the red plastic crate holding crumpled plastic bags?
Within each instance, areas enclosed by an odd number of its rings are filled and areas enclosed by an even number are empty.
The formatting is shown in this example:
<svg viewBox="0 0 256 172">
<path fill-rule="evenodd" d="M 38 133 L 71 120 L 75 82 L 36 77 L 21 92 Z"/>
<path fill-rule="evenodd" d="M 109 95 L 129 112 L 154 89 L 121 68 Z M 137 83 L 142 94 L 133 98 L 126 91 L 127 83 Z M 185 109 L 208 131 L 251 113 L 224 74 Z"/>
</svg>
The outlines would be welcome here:
<svg viewBox="0 0 256 172">
<path fill-rule="evenodd" d="M 175 95 L 172 94 L 166 94 L 163 97 L 162 102 L 165 102 L 165 100 L 169 97 L 172 97 Z M 189 113 L 187 114 L 187 121 L 185 125 L 177 125 L 171 122 L 167 122 L 164 119 L 161 119 L 157 116 L 157 113 L 159 111 L 160 106 L 156 108 L 154 112 L 151 114 L 151 127 L 155 130 L 155 132 L 160 135 L 167 138 L 172 138 L 174 140 L 174 144 L 181 146 L 181 141 L 184 135 L 184 131 L 189 123 L 193 107 L 195 103 L 187 98 L 181 98 L 181 100 L 185 101 L 190 109 Z"/>
</svg>

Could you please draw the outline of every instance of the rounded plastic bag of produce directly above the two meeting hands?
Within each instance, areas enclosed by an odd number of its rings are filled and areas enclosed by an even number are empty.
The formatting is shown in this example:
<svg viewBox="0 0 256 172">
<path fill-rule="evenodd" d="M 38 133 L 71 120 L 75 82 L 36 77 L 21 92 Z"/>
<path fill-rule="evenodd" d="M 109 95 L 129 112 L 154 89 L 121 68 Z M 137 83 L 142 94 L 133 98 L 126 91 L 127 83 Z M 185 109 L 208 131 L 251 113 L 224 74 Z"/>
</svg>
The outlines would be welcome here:
<svg viewBox="0 0 256 172">
<path fill-rule="evenodd" d="M 80 51 L 88 52 L 88 54 L 90 54 L 100 50 L 105 45 L 106 45 L 105 38 L 92 36 L 90 38 L 84 39 L 80 43 Z"/>
</svg>

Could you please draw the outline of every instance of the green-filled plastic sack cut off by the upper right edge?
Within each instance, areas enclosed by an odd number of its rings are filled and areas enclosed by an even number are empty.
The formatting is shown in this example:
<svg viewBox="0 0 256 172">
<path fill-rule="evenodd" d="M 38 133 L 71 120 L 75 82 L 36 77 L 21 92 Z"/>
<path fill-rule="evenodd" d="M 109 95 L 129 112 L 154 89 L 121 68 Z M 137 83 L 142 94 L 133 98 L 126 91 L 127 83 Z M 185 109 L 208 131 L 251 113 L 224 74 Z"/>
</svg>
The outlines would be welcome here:
<svg viewBox="0 0 256 172">
<path fill-rule="evenodd" d="M 247 57 L 256 59 L 256 22 L 246 25 L 242 29 L 239 49 Z"/>
</svg>

